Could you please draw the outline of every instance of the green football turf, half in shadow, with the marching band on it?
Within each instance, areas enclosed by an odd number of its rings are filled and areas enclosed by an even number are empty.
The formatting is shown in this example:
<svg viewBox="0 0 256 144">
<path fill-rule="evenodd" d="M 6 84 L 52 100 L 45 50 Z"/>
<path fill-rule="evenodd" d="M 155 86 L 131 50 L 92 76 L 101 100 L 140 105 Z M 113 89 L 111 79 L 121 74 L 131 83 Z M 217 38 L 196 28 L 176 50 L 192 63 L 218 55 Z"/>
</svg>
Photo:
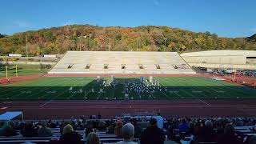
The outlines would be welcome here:
<svg viewBox="0 0 256 144">
<path fill-rule="evenodd" d="M 37 78 L 0 86 L 0 99 L 53 100 L 53 99 L 124 99 L 126 86 L 130 99 L 178 98 L 256 98 L 256 89 L 217 81 L 211 78 L 154 78 L 161 86 L 148 86 L 149 91 L 130 90 L 128 83 L 139 83 L 139 78 L 115 78 L 115 86 L 104 86 L 110 78 Z M 144 82 L 148 84 L 148 78 Z M 155 90 L 153 91 L 153 87 Z"/>
</svg>

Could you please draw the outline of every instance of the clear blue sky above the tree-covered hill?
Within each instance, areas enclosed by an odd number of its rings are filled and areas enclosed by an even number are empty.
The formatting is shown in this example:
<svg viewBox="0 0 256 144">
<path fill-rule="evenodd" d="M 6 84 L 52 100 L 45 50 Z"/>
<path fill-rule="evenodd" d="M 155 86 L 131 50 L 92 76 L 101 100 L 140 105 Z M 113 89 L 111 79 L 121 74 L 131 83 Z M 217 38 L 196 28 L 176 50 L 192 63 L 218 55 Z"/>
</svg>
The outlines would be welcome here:
<svg viewBox="0 0 256 144">
<path fill-rule="evenodd" d="M 256 33 L 255 0 L 1 0 L 0 34 L 70 24 L 171 26 L 221 37 Z"/>
</svg>

